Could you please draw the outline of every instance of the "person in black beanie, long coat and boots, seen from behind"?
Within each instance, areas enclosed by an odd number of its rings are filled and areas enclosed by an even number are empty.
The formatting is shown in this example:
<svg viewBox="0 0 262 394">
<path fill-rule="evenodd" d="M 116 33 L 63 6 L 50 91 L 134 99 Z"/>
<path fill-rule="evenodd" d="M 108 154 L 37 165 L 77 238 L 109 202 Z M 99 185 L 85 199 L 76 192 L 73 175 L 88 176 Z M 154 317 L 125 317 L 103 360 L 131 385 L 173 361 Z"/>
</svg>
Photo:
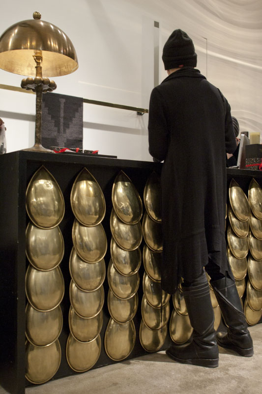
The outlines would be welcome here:
<svg viewBox="0 0 262 394">
<path fill-rule="evenodd" d="M 221 92 L 194 67 L 187 33 L 175 30 L 162 56 L 168 77 L 151 93 L 149 153 L 163 161 L 161 174 L 162 289 L 174 294 L 180 278 L 193 341 L 171 346 L 178 362 L 218 366 L 219 345 L 242 356 L 253 344 L 226 255 L 226 154 L 236 149 L 231 109 Z M 205 271 L 227 333 L 216 333 Z"/>
</svg>

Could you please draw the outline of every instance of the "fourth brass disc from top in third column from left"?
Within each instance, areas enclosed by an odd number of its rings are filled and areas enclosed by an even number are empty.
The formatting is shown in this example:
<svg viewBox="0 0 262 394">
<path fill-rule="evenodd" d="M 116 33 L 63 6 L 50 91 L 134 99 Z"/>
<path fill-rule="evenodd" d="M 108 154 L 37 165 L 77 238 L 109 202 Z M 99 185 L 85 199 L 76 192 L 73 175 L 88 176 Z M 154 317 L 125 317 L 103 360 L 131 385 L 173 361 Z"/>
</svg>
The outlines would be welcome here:
<svg viewBox="0 0 262 394">
<path fill-rule="evenodd" d="M 107 277 L 109 287 L 116 297 L 128 299 L 138 291 L 140 283 L 139 273 L 137 272 L 131 276 L 120 274 L 116 270 L 112 259 L 109 262 Z"/>
</svg>

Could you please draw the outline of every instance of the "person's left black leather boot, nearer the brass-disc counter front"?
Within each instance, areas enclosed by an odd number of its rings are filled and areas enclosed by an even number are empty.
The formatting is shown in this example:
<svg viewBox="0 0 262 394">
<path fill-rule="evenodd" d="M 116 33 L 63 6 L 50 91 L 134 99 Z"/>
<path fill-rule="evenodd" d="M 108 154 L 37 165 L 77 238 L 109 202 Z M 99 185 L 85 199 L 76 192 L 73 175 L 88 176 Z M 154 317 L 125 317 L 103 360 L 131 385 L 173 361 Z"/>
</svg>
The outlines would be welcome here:
<svg viewBox="0 0 262 394">
<path fill-rule="evenodd" d="M 215 368 L 218 366 L 218 347 L 214 330 L 214 313 L 205 273 L 192 286 L 183 287 L 184 298 L 193 340 L 186 345 L 172 345 L 166 354 L 175 361 Z"/>
</svg>

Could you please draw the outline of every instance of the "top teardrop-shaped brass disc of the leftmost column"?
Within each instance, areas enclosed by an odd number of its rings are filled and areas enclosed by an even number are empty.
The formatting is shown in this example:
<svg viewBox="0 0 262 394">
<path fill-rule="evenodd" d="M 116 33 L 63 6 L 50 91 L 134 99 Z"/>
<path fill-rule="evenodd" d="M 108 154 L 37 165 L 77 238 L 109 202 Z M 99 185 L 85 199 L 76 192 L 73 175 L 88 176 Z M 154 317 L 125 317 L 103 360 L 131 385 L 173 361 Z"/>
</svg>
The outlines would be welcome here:
<svg viewBox="0 0 262 394">
<path fill-rule="evenodd" d="M 42 165 L 32 176 L 26 192 L 30 220 L 40 229 L 58 226 L 64 216 L 64 198 L 53 175 Z"/>
</svg>

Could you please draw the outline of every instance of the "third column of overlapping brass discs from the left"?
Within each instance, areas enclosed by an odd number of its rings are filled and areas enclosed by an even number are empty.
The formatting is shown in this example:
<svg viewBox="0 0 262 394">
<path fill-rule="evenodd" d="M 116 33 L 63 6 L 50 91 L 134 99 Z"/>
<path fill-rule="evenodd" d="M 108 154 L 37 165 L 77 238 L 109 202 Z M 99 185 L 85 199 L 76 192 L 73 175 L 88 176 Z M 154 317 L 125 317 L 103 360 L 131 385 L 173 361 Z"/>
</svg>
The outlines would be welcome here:
<svg viewBox="0 0 262 394">
<path fill-rule="evenodd" d="M 112 189 L 113 210 L 110 218 L 111 260 L 108 266 L 107 298 L 111 319 L 104 345 L 108 357 L 126 359 L 135 346 L 136 329 L 133 318 L 138 308 L 138 288 L 141 265 L 140 244 L 143 208 L 142 200 L 130 178 L 120 171 Z"/>
</svg>

